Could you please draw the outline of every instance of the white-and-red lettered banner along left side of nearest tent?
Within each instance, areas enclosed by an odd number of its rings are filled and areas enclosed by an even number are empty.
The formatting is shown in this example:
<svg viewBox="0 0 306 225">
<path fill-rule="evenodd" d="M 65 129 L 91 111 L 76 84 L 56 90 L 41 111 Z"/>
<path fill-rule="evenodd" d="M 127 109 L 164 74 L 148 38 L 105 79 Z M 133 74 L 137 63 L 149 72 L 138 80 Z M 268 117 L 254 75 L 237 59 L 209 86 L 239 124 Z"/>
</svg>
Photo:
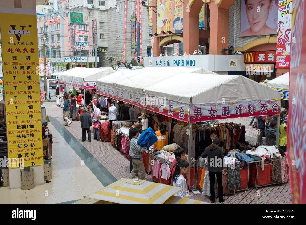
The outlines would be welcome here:
<svg viewBox="0 0 306 225">
<path fill-rule="evenodd" d="M 143 101 L 147 102 L 147 110 L 188 122 L 188 105 L 152 96 L 144 96 Z"/>
</svg>

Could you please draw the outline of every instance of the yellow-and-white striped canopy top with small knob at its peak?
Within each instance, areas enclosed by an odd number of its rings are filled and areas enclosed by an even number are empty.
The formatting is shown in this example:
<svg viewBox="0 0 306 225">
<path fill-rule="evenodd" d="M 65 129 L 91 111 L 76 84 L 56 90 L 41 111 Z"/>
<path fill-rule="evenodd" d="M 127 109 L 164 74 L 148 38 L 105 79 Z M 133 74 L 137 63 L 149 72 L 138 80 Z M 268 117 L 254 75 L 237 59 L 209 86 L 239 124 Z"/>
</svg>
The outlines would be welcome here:
<svg viewBox="0 0 306 225">
<path fill-rule="evenodd" d="M 181 188 L 170 185 L 121 178 L 85 198 L 123 204 L 162 204 L 180 190 Z"/>
</svg>

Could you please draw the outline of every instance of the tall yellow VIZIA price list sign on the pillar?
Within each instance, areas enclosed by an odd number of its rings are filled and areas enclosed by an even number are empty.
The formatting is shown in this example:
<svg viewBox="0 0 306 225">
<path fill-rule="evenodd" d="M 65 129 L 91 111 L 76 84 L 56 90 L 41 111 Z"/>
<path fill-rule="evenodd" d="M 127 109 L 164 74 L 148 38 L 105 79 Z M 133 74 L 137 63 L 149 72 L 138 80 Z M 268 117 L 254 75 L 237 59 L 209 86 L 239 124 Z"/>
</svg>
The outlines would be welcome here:
<svg viewBox="0 0 306 225">
<path fill-rule="evenodd" d="M 36 15 L 0 13 L 0 28 L 9 168 L 43 165 Z"/>
</svg>

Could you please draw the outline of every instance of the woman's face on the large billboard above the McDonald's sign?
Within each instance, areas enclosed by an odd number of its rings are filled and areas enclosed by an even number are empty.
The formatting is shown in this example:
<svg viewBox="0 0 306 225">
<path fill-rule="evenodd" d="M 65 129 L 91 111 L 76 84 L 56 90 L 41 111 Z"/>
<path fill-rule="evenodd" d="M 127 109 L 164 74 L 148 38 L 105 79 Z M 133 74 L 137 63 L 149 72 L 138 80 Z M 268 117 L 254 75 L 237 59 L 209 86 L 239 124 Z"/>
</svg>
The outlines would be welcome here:
<svg viewBox="0 0 306 225">
<path fill-rule="evenodd" d="M 273 1 L 270 0 L 248 0 L 246 2 L 245 9 L 248 23 L 253 32 L 260 32 L 267 25 L 269 11 L 272 9 L 272 6 Z"/>
</svg>

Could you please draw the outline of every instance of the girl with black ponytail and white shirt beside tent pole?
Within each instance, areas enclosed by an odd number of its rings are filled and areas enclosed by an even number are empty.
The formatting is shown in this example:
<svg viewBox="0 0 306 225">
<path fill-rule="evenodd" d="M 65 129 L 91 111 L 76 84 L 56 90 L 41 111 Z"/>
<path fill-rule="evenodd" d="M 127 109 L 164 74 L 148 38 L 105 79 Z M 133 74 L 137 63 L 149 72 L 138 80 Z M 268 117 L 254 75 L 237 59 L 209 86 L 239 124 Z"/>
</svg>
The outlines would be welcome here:
<svg viewBox="0 0 306 225">
<path fill-rule="evenodd" d="M 187 173 L 187 171 L 188 171 L 188 162 L 186 160 L 182 160 L 181 162 L 177 163 L 172 178 L 173 186 L 182 188 L 183 190 L 174 194 L 175 196 L 187 198 L 187 185 L 186 185 L 186 180 L 183 176 L 183 173 Z"/>
</svg>

